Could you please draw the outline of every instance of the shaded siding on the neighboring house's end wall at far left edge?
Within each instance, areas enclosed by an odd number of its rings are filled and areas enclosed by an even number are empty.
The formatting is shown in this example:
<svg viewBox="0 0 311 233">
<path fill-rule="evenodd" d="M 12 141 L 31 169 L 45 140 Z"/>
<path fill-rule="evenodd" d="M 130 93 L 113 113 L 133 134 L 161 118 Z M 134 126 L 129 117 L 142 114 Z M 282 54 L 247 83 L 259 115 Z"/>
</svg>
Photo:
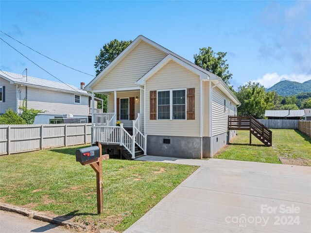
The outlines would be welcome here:
<svg viewBox="0 0 311 233">
<path fill-rule="evenodd" d="M 0 86 L 5 86 L 5 102 L 0 102 L 0 114 L 5 113 L 6 109 L 16 112 L 16 85 L 0 78 Z"/>
</svg>

